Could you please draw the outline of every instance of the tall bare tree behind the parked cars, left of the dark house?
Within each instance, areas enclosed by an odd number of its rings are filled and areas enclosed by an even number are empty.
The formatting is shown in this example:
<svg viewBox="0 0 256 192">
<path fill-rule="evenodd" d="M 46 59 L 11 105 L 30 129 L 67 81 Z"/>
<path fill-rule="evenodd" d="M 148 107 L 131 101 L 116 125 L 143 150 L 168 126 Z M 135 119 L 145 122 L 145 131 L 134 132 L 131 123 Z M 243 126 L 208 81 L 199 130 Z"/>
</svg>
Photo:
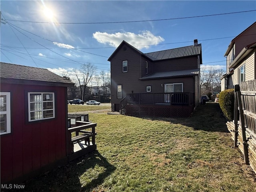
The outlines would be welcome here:
<svg viewBox="0 0 256 192">
<path fill-rule="evenodd" d="M 92 76 L 95 74 L 95 71 L 96 68 L 91 63 L 82 64 L 80 70 L 74 70 L 80 87 L 82 100 L 84 100 L 85 90 L 90 80 L 92 80 Z"/>
</svg>

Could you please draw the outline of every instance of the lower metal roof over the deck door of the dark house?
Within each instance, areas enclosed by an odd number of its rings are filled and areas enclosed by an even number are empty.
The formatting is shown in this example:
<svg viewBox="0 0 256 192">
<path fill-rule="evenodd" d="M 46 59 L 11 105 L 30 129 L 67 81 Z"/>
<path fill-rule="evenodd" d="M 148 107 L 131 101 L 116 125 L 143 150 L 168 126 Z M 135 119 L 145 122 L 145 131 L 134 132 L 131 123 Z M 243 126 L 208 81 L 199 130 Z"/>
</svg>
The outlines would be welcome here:
<svg viewBox="0 0 256 192">
<path fill-rule="evenodd" d="M 199 74 L 200 69 L 188 69 L 178 71 L 156 72 L 140 78 L 140 80 L 159 79 L 159 78 L 172 78 L 178 76 L 194 76 Z"/>
</svg>

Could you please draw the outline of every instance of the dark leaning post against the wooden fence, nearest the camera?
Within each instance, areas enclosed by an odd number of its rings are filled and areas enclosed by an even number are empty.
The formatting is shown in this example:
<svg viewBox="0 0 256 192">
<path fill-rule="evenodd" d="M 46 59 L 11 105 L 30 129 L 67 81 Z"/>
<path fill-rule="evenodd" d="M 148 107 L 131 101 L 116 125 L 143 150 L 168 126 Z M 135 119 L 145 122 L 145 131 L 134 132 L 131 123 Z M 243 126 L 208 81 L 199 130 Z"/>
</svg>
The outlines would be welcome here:
<svg viewBox="0 0 256 192">
<path fill-rule="evenodd" d="M 244 126 L 244 111 L 242 107 L 242 99 L 241 99 L 241 92 L 237 91 L 236 93 L 237 99 L 238 99 L 238 107 L 239 107 L 239 114 L 240 114 L 240 122 L 242 126 L 242 137 L 243 137 L 243 145 L 244 145 L 244 162 L 246 165 L 249 164 L 248 159 L 248 143 L 246 142 L 246 132 L 245 132 L 245 126 Z"/>
</svg>

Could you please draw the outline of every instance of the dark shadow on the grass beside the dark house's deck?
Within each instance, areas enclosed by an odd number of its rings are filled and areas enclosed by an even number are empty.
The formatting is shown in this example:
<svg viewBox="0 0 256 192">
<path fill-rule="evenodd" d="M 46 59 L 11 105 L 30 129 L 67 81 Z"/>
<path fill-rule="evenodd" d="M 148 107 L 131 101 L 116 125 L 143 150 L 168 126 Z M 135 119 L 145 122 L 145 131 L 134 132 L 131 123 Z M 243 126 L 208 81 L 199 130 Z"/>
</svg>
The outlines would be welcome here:
<svg viewBox="0 0 256 192">
<path fill-rule="evenodd" d="M 189 118 L 157 118 L 159 119 L 192 127 L 195 130 L 229 133 L 226 126 L 228 120 L 222 115 L 220 105 L 214 102 L 200 104 Z"/>
</svg>

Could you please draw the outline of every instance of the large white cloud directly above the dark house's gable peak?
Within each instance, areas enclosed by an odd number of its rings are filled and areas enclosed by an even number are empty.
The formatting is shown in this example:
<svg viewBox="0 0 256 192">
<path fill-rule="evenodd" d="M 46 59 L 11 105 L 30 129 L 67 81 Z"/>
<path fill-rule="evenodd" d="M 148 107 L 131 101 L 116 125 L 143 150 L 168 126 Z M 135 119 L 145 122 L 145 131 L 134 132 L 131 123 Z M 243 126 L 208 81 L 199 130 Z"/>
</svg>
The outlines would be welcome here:
<svg viewBox="0 0 256 192">
<path fill-rule="evenodd" d="M 159 44 L 164 41 L 164 38 L 161 36 L 154 36 L 150 31 L 143 31 L 140 34 L 132 32 L 118 32 L 112 34 L 108 34 L 106 32 L 95 32 L 93 37 L 100 43 L 109 44 L 114 47 L 118 47 L 123 40 L 132 46 L 142 45 L 140 48 L 149 48 L 149 46 L 146 45 Z"/>
</svg>

